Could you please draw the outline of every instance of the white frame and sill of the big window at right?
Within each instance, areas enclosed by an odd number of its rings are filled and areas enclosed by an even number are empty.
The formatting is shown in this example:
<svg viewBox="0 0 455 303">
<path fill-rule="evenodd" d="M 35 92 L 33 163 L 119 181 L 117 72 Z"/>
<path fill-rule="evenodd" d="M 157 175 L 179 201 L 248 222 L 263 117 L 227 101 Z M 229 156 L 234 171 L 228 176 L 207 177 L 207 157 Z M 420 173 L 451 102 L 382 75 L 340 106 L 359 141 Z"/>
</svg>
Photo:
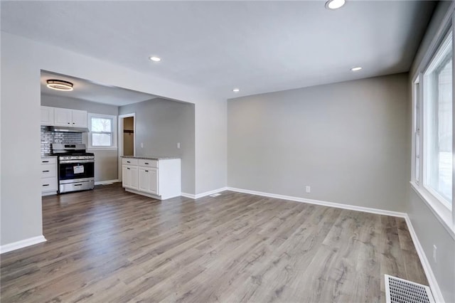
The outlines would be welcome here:
<svg viewBox="0 0 455 303">
<path fill-rule="evenodd" d="M 454 18 L 452 16 L 451 18 Z M 450 20 L 451 21 L 451 20 Z M 452 23 L 452 22 L 451 22 Z M 454 35 L 454 26 L 451 26 L 451 23 L 446 24 L 446 28 L 449 28 L 446 31 L 441 31 L 439 37 L 435 38 L 434 48 L 432 48 L 432 53 L 427 53 L 427 60 L 424 65 L 419 66 L 419 70 L 412 78 L 412 171 L 411 171 L 411 185 L 414 191 L 422 198 L 422 200 L 429 206 L 431 211 L 437 217 L 437 219 L 442 223 L 444 228 L 449 232 L 452 238 L 455 238 L 455 161 L 452 164 L 452 203 L 449 207 L 446 203 L 441 201 L 441 196 L 432 191 L 427 186 L 424 186 L 424 180 L 426 178 L 425 167 L 424 167 L 424 157 L 425 149 L 424 144 L 427 142 L 427 134 L 425 126 L 427 125 L 427 110 L 426 102 L 427 92 L 426 81 L 424 79 L 424 73 L 428 70 L 429 64 L 432 63 L 435 56 L 441 50 L 443 43 L 446 41 L 446 38 L 451 34 L 452 36 L 452 50 L 455 49 L 455 35 Z M 455 54 L 455 52 L 453 52 Z M 452 104 L 455 105 L 455 58 L 452 58 Z M 417 107 L 419 111 L 417 112 Z M 417 117 L 417 113 L 419 117 Z M 455 151 L 455 106 L 452 106 L 452 153 Z M 419 127 L 419 128 L 418 128 Z M 417 137 L 419 137 L 419 144 L 416 144 Z M 416 161 L 417 156 L 419 160 L 419 171 L 416 171 Z M 416 176 L 419 176 L 417 179 Z"/>
</svg>

